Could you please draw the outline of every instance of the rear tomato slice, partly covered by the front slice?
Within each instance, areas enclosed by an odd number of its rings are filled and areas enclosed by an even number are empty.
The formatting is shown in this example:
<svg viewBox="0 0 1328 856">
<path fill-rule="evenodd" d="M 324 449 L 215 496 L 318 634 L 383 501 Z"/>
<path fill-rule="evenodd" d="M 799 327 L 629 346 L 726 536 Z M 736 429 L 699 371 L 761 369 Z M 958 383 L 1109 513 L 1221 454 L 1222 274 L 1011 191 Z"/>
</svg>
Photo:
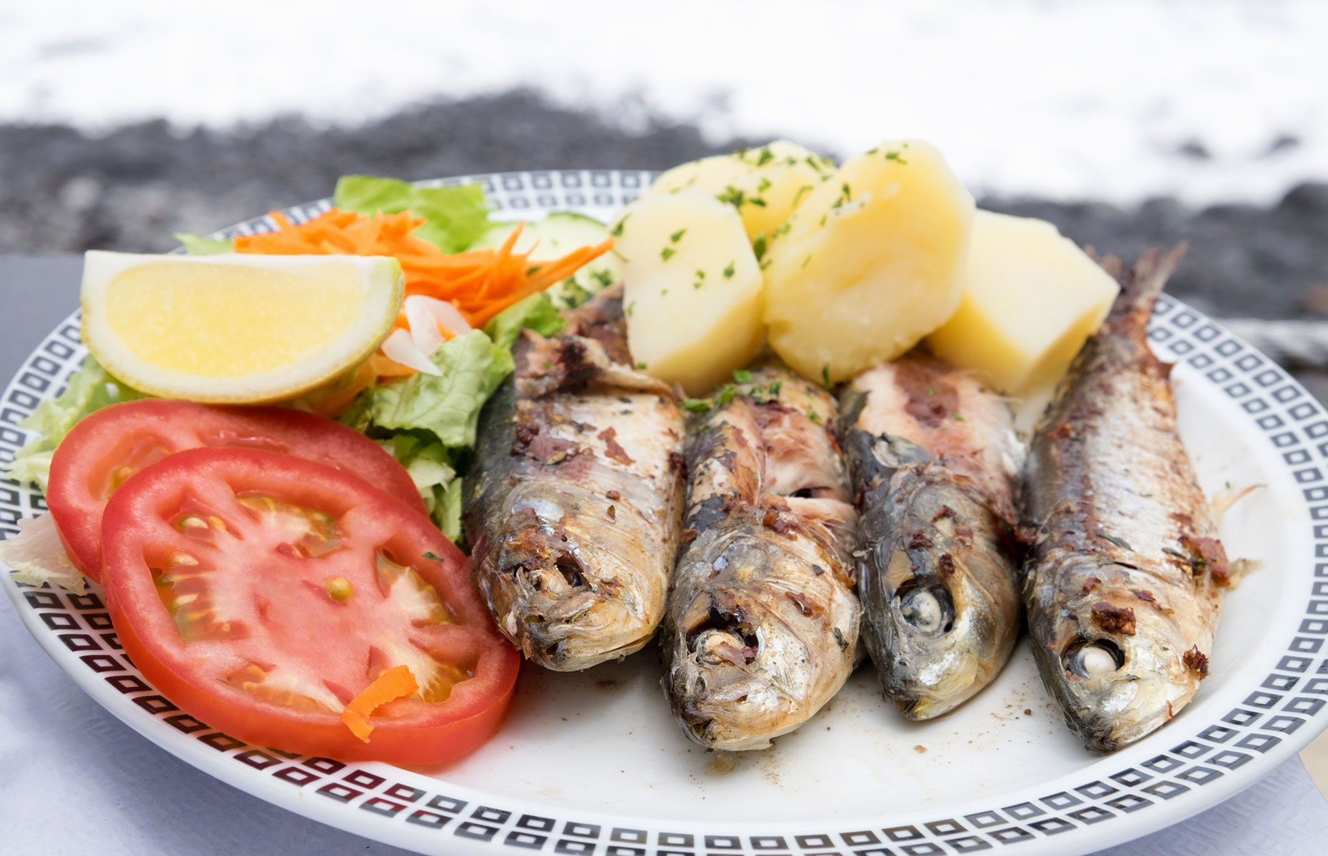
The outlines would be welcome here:
<svg viewBox="0 0 1328 856">
<path fill-rule="evenodd" d="M 46 506 L 74 565 L 100 580 L 106 500 L 143 467 L 202 446 L 267 449 L 345 468 L 425 514 L 405 468 L 372 439 L 332 419 L 290 407 L 129 401 L 78 422 L 50 461 Z"/>
</svg>

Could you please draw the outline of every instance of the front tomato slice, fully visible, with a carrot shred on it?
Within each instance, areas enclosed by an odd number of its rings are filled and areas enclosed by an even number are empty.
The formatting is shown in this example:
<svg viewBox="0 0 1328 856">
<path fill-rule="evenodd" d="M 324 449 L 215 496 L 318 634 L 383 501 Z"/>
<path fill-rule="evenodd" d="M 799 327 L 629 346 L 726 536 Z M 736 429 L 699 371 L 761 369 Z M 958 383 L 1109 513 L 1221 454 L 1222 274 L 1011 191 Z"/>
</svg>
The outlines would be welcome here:
<svg viewBox="0 0 1328 856">
<path fill-rule="evenodd" d="M 102 532 L 121 645 L 211 727 L 291 752 L 428 764 L 502 722 L 521 656 L 465 557 L 363 479 L 279 453 L 181 451 L 125 482 Z M 345 706 L 402 665 L 418 691 L 373 707 L 368 742 L 355 737 Z"/>
</svg>

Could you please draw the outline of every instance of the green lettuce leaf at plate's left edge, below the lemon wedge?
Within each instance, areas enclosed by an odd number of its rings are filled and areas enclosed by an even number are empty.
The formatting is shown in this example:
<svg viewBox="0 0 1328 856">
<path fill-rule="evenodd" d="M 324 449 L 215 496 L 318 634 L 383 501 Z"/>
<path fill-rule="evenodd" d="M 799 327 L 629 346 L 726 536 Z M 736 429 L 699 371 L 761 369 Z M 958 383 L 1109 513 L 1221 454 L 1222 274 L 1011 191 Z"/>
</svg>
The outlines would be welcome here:
<svg viewBox="0 0 1328 856">
<path fill-rule="evenodd" d="M 31 417 L 19 423 L 19 427 L 37 431 L 41 437 L 15 454 L 5 470 L 5 478 L 24 483 L 35 482 L 45 491 L 46 478 L 50 475 L 50 455 L 78 419 L 121 401 L 149 397 L 117 381 L 89 356 L 84 360 L 82 368 L 69 377 L 65 392 L 57 398 L 44 399 Z"/>
</svg>

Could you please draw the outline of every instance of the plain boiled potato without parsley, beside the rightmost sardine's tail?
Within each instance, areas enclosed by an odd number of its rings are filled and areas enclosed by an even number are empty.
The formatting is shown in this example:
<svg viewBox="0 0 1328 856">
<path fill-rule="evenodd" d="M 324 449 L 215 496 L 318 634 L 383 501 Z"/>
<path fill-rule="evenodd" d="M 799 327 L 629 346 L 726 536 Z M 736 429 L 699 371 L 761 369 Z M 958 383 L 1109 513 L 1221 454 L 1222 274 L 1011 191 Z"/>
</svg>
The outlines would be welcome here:
<svg viewBox="0 0 1328 856">
<path fill-rule="evenodd" d="M 1065 373 L 1118 291 L 1050 223 L 979 211 L 964 296 L 927 344 L 993 389 L 1045 386 Z"/>
</svg>

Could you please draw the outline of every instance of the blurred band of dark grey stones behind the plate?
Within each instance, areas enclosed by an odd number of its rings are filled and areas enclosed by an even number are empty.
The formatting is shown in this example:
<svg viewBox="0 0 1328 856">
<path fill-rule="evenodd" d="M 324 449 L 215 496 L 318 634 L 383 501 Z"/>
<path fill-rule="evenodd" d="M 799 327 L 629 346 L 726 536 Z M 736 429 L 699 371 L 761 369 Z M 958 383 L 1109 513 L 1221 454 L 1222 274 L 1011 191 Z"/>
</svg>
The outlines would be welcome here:
<svg viewBox="0 0 1328 856">
<path fill-rule="evenodd" d="M 98 247 L 165 251 L 173 231 L 210 232 L 270 208 L 327 196 L 339 175 L 408 179 L 540 167 L 665 169 L 764 141 L 708 145 L 696 127 L 647 118 L 635 131 L 554 107 L 530 92 L 437 102 L 371 125 L 316 127 L 297 117 L 218 131 L 143 122 L 98 137 L 64 126 L 0 126 L 0 252 Z M 846 153 L 829 153 L 846 154 Z M 1150 199 L 983 199 L 1038 216 L 1082 244 L 1133 259 L 1190 242 L 1169 291 L 1219 316 L 1328 316 L 1328 184 L 1278 204 L 1187 208 Z"/>
</svg>

